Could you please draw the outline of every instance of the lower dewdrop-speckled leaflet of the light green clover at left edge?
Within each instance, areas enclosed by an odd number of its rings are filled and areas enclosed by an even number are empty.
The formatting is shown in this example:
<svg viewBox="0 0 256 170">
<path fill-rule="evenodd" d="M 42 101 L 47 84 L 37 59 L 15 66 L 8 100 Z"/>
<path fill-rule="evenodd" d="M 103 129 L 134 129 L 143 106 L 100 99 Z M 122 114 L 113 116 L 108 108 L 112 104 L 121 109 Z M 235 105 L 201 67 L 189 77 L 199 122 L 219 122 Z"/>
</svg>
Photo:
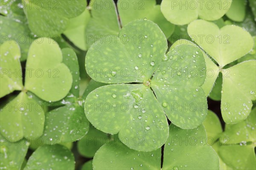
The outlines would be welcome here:
<svg viewBox="0 0 256 170">
<path fill-rule="evenodd" d="M 44 130 L 42 105 L 21 92 L 1 109 L 0 128 L 3 136 L 12 141 L 28 137 L 39 137 Z"/>
</svg>

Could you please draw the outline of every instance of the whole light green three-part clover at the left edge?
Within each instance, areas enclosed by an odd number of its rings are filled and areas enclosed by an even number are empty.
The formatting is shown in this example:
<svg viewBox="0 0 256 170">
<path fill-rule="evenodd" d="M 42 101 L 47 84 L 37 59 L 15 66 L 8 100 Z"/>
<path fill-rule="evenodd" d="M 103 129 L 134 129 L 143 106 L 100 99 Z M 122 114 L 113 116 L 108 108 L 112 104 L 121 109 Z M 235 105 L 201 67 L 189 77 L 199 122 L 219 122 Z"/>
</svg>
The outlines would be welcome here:
<svg viewBox="0 0 256 170">
<path fill-rule="evenodd" d="M 48 38 L 37 40 L 40 40 L 41 44 L 34 41 L 29 48 L 24 87 L 18 45 L 12 41 L 0 46 L 0 57 L 3 61 L 1 77 L 4 80 L 1 80 L 1 91 L 6 91 L 1 97 L 14 90 L 21 91 L 1 109 L 1 133 L 14 141 L 22 137 L 39 137 L 43 133 L 43 105 L 28 95 L 27 91 L 33 92 L 41 99 L 56 101 L 66 96 L 72 85 L 70 70 L 61 63 L 62 54 L 56 42 Z M 53 41 L 52 44 L 49 41 Z"/>
</svg>

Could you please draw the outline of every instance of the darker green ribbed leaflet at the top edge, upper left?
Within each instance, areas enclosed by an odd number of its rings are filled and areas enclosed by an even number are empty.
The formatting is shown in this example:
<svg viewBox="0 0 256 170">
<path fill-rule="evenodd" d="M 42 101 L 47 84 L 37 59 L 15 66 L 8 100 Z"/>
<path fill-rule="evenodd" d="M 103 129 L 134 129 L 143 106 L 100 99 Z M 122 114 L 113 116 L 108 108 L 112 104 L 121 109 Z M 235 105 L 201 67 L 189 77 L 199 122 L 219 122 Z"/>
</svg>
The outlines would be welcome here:
<svg viewBox="0 0 256 170">
<path fill-rule="evenodd" d="M 86 8 L 86 0 L 25 0 L 24 8 L 29 28 L 44 37 L 63 33 L 70 18 L 77 17 Z"/>
</svg>

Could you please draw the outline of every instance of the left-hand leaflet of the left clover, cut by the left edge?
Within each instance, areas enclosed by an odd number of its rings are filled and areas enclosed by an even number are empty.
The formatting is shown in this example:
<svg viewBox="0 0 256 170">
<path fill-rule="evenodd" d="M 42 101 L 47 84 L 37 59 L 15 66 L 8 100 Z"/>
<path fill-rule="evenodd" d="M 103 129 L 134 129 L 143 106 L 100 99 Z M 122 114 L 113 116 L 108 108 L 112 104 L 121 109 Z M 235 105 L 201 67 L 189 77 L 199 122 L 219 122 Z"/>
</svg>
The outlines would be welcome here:
<svg viewBox="0 0 256 170">
<path fill-rule="evenodd" d="M 0 97 L 3 97 L 15 90 L 22 90 L 23 84 L 19 45 L 15 41 L 5 42 L 0 49 Z"/>
</svg>

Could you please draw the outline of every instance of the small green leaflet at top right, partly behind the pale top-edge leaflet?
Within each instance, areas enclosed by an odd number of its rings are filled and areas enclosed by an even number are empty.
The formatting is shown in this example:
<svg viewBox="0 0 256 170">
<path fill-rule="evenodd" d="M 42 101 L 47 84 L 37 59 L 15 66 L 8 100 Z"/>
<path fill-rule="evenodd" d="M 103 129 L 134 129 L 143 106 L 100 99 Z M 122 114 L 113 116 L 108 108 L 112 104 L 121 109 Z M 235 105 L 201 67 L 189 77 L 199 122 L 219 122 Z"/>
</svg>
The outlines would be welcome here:
<svg viewBox="0 0 256 170">
<path fill-rule="evenodd" d="M 241 22 L 245 17 L 246 0 L 233 0 L 226 15 L 233 21 Z"/>
</svg>

